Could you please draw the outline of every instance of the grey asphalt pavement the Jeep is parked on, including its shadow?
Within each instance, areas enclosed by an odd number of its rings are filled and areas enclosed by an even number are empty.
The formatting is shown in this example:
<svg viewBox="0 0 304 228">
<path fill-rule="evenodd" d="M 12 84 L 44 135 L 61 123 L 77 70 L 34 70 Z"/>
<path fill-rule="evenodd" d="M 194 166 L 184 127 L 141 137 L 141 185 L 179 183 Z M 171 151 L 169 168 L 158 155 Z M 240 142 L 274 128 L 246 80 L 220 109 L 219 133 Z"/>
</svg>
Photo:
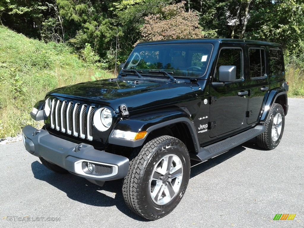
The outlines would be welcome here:
<svg viewBox="0 0 304 228">
<path fill-rule="evenodd" d="M 288 101 L 277 148 L 250 140 L 193 166 L 180 204 L 156 221 L 127 208 L 121 180 L 99 187 L 48 170 L 22 141 L 1 145 L 0 227 L 304 227 L 304 99 Z"/>
</svg>

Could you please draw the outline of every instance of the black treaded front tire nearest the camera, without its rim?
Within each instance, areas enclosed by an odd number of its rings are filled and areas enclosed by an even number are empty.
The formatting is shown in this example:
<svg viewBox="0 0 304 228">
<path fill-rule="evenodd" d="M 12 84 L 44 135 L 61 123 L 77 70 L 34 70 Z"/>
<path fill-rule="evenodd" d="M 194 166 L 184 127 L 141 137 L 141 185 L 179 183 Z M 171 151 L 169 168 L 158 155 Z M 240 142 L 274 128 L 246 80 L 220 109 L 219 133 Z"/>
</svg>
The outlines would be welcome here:
<svg viewBox="0 0 304 228">
<path fill-rule="evenodd" d="M 164 149 L 168 144 L 174 145 L 175 149 Z M 150 198 L 149 181 L 154 165 L 167 154 L 175 154 L 181 159 L 183 178 L 174 199 L 165 205 L 157 205 Z M 189 176 L 190 158 L 185 144 L 172 136 L 159 136 L 148 141 L 143 147 L 136 148 L 131 155 L 129 173 L 123 181 L 123 197 L 133 212 L 146 219 L 156 220 L 169 214 L 178 205 L 187 188 Z"/>
</svg>

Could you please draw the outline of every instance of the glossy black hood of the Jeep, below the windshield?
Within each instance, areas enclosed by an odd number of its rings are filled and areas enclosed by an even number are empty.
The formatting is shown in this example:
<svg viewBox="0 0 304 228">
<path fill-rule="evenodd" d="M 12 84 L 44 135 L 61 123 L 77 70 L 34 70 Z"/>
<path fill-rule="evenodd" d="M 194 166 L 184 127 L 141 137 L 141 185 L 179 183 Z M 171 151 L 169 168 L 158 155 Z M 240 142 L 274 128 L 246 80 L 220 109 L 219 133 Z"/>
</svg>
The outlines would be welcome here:
<svg viewBox="0 0 304 228">
<path fill-rule="evenodd" d="M 48 95 L 109 105 L 115 112 L 121 104 L 132 111 L 194 97 L 190 83 L 168 81 L 104 79 L 57 88 Z"/>
</svg>

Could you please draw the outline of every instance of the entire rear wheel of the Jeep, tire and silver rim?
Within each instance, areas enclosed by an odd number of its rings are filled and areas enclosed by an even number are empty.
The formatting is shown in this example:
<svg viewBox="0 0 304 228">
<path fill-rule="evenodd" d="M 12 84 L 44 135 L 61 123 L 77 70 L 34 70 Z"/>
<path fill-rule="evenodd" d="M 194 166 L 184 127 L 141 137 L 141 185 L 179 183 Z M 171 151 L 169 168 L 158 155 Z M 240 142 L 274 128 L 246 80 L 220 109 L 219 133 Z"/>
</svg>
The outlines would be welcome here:
<svg viewBox="0 0 304 228">
<path fill-rule="evenodd" d="M 265 132 L 256 137 L 257 145 L 267 150 L 275 149 L 281 141 L 285 125 L 285 112 L 282 105 L 275 103 L 272 106 L 264 125 Z"/>
</svg>

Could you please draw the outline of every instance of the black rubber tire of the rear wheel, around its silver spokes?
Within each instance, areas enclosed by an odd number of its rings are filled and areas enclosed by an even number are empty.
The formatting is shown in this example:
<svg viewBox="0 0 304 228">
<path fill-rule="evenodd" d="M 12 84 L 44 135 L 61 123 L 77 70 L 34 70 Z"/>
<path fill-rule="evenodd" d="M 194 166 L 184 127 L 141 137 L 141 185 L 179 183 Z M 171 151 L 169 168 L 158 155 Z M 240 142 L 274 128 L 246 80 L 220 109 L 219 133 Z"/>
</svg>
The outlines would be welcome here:
<svg viewBox="0 0 304 228">
<path fill-rule="evenodd" d="M 272 129 L 273 126 L 275 125 L 274 119 L 277 115 L 282 117 L 282 125 L 281 125 L 280 134 L 278 137 L 276 137 L 276 139 L 274 141 L 272 138 L 273 135 L 271 132 L 273 130 Z M 266 126 L 265 132 L 256 136 L 257 145 L 259 147 L 267 149 L 267 150 L 275 149 L 275 147 L 277 147 L 281 141 L 283 131 L 284 131 L 284 124 L 285 124 L 285 112 L 283 110 L 283 107 L 282 107 L 282 105 L 275 103 L 271 108 L 271 111 L 269 113 L 266 123 L 264 123 L 264 125 Z"/>
</svg>

